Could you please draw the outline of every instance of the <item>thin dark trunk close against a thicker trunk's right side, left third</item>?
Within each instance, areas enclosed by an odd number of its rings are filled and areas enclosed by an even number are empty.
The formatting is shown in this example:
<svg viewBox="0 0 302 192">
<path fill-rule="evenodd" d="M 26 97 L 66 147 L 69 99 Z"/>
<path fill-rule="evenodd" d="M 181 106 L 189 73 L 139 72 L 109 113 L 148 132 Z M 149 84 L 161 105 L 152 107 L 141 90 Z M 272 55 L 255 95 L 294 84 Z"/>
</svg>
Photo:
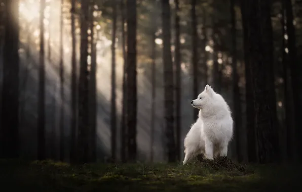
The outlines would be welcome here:
<svg viewBox="0 0 302 192">
<path fill-rule="evenodd" d="M 93 2 L 94 3 L 94 2 Z M 91 67 L 90 67 L 90 81 L 89 81 L 89 107 L 90 107 L 90 159 L 92 162 L 96 161 L 96 126 L 97 126 L 97 88 L 96 88 L 96 39 L 95 39 L 95 27 L 94 27 L 94 4 L 91 5 Z"/>
</svg>

